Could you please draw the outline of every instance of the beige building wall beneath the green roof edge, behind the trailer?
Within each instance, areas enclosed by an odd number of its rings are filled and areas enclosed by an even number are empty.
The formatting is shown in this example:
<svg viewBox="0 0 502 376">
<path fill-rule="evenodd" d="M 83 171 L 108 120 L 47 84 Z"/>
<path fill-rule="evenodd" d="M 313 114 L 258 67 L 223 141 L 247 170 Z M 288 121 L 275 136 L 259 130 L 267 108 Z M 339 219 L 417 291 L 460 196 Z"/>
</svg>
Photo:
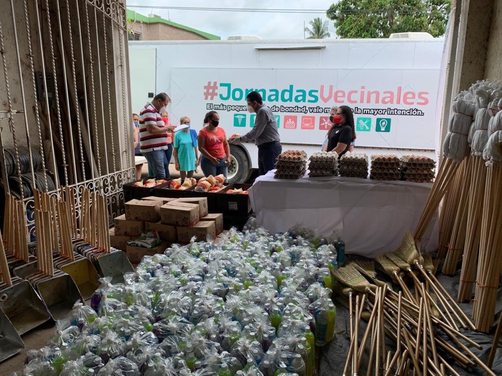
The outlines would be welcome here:
<svg viewBox="0 0 502 376">
<path fill-rule="evenodd" d="M 162 23 L 129 22 L 128 29 L 140 33 L 142 41 L 197 41 L 206 39 L 188 30 L 178 29 Z"/>
</svg>

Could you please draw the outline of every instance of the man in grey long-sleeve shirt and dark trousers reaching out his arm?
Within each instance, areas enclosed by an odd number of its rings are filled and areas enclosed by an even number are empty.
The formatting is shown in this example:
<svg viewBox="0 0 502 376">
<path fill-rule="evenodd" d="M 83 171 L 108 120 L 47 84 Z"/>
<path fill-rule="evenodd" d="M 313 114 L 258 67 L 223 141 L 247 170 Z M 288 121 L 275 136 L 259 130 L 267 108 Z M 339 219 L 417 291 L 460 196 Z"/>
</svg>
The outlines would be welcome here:
<svg viewBox="0 0 502 376">
<path fill-rule="evenodd" d="M 277 122 L 271 109 L 263 104 L 259 92 L 250 92 L 246 99 L 247 110 L 256 112 L 255 126 L 243 136 L 230 138 L 229 142 L 238 144 L 255 141 L 258 146 L 258 172 L 260 175 L 265 175 L 274 169 L 277 157 L 282 152 Z"/>
</svg>

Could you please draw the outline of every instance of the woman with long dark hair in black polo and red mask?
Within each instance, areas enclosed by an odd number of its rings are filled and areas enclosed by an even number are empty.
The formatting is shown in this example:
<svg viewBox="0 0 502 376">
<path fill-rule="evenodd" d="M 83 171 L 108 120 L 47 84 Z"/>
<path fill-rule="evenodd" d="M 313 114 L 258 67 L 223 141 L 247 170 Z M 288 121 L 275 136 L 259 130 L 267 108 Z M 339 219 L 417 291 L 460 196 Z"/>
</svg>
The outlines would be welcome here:
<svg viewBox="0 0 502 376">
<path fill-rule="evenodd" d="M 327 150 L 336 151 L 340 157 L 349 150 L 350 143 L 355 140 L 354 115 L 349 106 L 340 106 L 335 116 L 330 116 L 330 120 L 335 126 L 328 134 Z"/>
</svg>

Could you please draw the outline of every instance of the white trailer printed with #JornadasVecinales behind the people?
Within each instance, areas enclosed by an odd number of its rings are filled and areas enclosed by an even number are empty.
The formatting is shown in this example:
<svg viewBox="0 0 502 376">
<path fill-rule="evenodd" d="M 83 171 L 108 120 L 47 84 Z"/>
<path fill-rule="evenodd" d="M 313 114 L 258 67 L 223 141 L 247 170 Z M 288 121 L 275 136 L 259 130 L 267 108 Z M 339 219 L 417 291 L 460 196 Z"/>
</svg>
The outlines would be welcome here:
<svg viewBox="0 0 502 376">
<path fill-rule="evenodd" d="M 354 111 L 354 151 L 436 156 L 436 115 L 443 40 L 129 42 L 133 111 L 158 92 L 172 98 L 170 121 L 202 127 L 216 110 L 227 135 L 244 134 L 258 90 L 276 115 L 283 149 L 318 151 L 332 106 Z M 442 99 L 442 98 L 441 98 Z M 231 145 L 231 182 L 258 165 L 252 143 Z"/>
</svg>

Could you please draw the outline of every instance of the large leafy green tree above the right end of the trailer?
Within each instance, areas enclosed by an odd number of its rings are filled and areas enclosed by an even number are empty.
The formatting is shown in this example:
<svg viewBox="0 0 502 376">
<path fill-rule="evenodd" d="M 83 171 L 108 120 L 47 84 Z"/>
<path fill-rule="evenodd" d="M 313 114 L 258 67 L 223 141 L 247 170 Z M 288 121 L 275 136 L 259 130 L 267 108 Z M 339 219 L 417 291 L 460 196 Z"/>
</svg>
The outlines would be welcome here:
<svg viewBox="0 0 502 376">
<path fill-rule="evenodd" d="M 388 38 L 392 33 L 445 33 L 450 0 L 340 0 L 326 12 L 340 38 Z"/>
</svg>

